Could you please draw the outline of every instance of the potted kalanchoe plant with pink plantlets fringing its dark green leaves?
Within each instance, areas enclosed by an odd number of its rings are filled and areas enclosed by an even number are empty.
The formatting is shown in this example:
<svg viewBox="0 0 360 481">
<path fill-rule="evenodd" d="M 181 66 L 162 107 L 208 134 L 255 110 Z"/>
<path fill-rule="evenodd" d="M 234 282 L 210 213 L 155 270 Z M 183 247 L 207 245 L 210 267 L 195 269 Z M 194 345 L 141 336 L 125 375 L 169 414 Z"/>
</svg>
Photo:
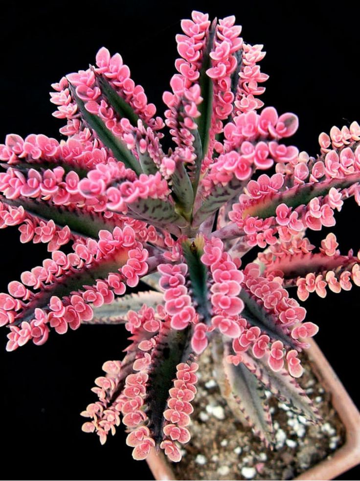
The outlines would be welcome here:
<svg viewBox="0 0 360 481">
<path fill-rule="evenodd" d="M 0 294 L 7 350 L 53 330 L 125 324 L 131 343 L 103 365 L 83 430 L 104 443 L 121 419 L 136 459 L 157 447 L 180 460 L 210 343 L 224 396 L 267 445 L 265 389 L 317 422 L 294 379 L 317 327 L 289 288 L 304 301 L 360 285 L 359 254 L 340 254 L 332 233 L 318 252 L 305 237 L 334 226 L 344 199 L 360 204 L 360 127 L 320 134 L 316 158 L 283 142 L 297 117 L 260 110 L 265 52 L 234 24 L 196 11 L 181 22 L 165 122 L 102 48 L 94 66 L 53 84 L 66 141 L 10 134 L 0 146 L 0 227 L 18 225 L 22 242 L 50 253 Z M 255 246 L 263 252 L 242 266 Z M 126 293 L 140 280 L 147 290 Z"/>
</svg>

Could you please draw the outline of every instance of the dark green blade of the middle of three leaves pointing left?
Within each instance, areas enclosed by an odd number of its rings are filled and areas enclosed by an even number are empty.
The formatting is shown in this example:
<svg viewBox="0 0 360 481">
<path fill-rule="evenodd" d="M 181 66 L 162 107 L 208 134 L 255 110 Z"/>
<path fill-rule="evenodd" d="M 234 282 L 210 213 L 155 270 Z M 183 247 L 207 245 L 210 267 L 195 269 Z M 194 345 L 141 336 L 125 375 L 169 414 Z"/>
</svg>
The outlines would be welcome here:
<svg viewBox="0 0 360 481">
<path fill-rule="evenodd" d="M 73 234 L 82 237 L 98 238 L 101 229 L 112 229 L 115 223 L 111 219 L 104 219 L 101 213 L 86 212 L 80 208 L 55 205 L 48 201 L 36 201 L 28 198 L 6 199 L 0 196 L 1 202 L 15 207 L 20 205 L 28 214 L 39 219 L 53 220 L 57 227 L 68 226 Z"/>
</svg>

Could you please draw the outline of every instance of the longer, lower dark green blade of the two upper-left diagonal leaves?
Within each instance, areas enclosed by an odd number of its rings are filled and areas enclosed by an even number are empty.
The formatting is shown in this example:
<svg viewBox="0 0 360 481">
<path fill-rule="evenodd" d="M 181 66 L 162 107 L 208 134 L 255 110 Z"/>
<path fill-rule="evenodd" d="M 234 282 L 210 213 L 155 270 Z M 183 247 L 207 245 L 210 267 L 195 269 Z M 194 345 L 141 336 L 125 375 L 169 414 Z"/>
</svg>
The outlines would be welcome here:
<svg viewBox="0 0 360 481">
<path fill-rule="evenodd" d="M 134 155 L 129 151 L 129 149 L 123 144 L 121 140 L 116 138 L 112 131 L 109 130 L 104 122 L 97 115 L 91 114 L 85 108 L 85 103 L 76 95 L 74 87 L 69 84 L 71 95 L 77 103 L 79 112 L 84 118 L 85 122 L 96 132 L 96 135 L 101 140 L 101 142 L 112 151 L 114 157 L 123 162 L 125 167 L 133 169 L 133 171 L 140 175 L 142 173 L 141 166 Z"/>
</svg>

